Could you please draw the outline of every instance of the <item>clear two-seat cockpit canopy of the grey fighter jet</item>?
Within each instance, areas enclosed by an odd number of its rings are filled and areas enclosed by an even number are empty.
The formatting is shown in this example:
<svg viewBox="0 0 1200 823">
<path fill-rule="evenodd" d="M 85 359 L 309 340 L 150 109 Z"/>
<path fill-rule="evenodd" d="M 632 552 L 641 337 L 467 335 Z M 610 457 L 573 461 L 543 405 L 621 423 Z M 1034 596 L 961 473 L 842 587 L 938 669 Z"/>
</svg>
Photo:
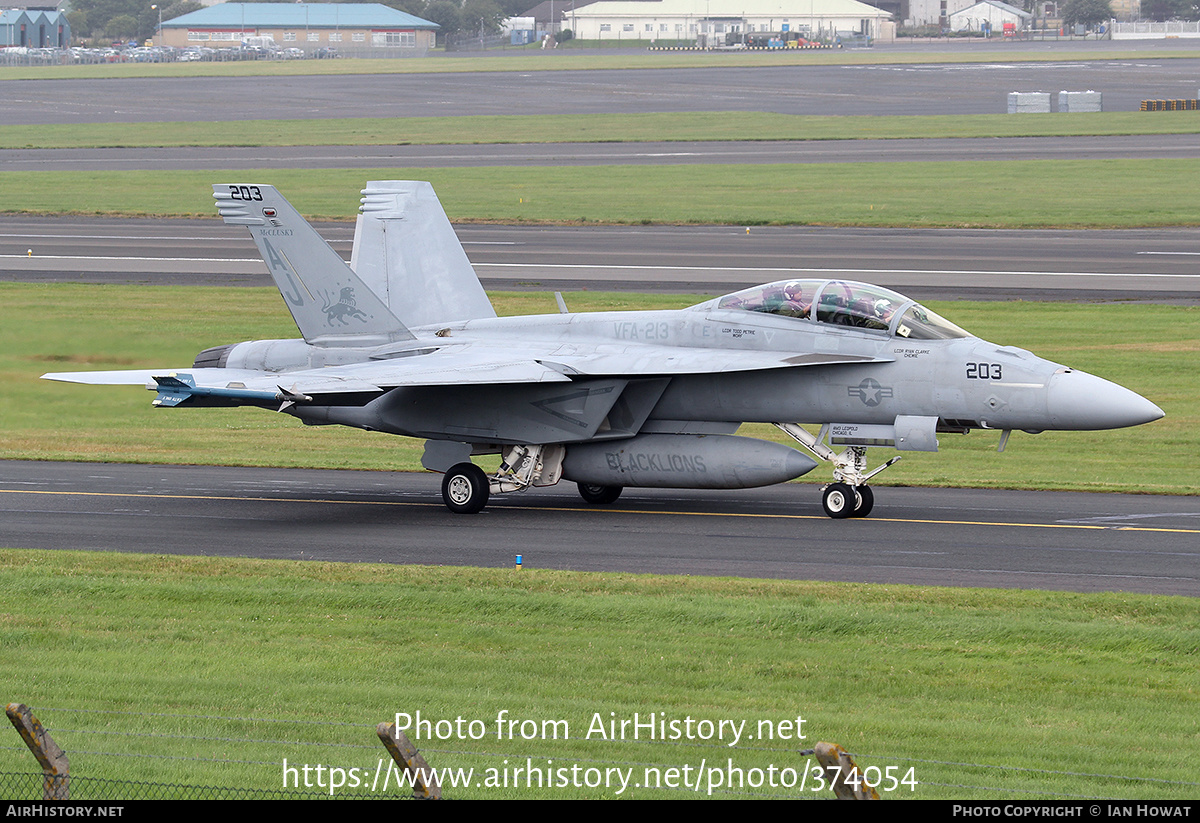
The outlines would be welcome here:
<svg viewBox="0 0 1200 823">
<path fill-rule="evenodd" d="M 869 329 L 910 340 L 971 337 L 967 331 L 902 294 L 841 280 L 781 280 L 727 294 L 697 308 L 762 312 L 808 323 Z"/>
</svg>

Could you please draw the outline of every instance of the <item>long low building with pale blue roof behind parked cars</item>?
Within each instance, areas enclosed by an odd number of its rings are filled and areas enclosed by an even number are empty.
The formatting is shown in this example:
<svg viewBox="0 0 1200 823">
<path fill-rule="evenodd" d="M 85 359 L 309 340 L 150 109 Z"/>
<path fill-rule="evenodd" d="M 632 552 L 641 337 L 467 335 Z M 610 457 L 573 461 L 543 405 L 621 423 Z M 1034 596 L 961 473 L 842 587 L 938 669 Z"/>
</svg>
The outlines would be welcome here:
<svg viewBox="0 0 1200 823">
<path fill-rule="evenodd" d="M 162 42 L 232 48 L 247 38 L 271 37 L 280 48 L 310 54 L 320 49 L 359 56 L 385 49 L 424 54 L 439 28 L 378 2 L 222 2 L 163 20 Z"/>
</svg>

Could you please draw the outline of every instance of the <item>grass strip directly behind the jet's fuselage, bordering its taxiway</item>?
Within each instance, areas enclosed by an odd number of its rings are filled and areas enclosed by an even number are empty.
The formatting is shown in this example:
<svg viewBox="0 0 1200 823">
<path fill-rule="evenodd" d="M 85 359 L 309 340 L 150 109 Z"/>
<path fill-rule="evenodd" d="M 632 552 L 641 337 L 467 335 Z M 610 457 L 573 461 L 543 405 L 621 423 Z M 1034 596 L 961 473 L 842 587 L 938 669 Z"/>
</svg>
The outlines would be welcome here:
<svg viewBox="0 0 1200 823">
<path fill-rule="evenodd" d="M 548 294 L 493 295 L 505 314 L 553 312 Z M 575 293 L 572 311 L 668 308 L 704 295 Z M 150 392 L 36 379 L 43 372 L 179 367 L 203 348 L 294 337 L 275 289 L 0 284 L 0 457 L 419 470 L 421 441 L 306 427 L 254 409 L 152 409 Z M 937 455 L 908 455 L 882 483 L 1200 492 L 1200 414 L 1192 364 L 1200 308 L 1151 305 L 935 305 L 985 340 L 1015 344 L 1150 397 L 1166 417 L 1115 432 L 942 435 Z M 1152 356 L 1147 356 L 1147 354 Z M 749 427 L 778 438 L 769 426 Z M 826 482 L 824 468 L 806 477 Z"/>
</svg>

